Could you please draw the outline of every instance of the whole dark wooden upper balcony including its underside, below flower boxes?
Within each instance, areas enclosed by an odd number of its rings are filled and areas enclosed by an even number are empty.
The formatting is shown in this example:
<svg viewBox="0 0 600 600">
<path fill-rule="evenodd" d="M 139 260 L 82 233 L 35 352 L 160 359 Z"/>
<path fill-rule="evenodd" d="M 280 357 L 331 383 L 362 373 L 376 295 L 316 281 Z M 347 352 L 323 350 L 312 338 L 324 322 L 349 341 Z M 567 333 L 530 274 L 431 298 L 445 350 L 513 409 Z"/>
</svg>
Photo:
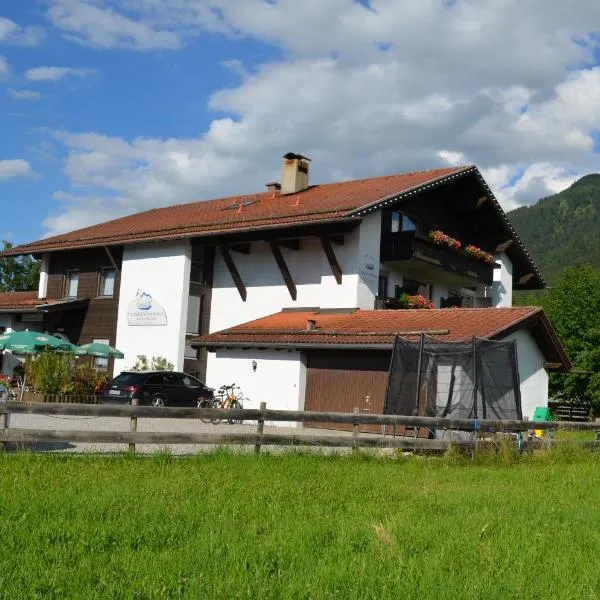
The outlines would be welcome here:
<svg viewBox="0 0 600 600">
<path fill-rule="evenodd" d="M 381 239 L 381 262 L 396 264 L 402 273 L 445 283 L 469 287 L 491 285 L 494 269 L 500 265 L 487 264 L 473 256 L 448 246 L 434 244 L 415 231 L 387 234 Z"/>
</svg>

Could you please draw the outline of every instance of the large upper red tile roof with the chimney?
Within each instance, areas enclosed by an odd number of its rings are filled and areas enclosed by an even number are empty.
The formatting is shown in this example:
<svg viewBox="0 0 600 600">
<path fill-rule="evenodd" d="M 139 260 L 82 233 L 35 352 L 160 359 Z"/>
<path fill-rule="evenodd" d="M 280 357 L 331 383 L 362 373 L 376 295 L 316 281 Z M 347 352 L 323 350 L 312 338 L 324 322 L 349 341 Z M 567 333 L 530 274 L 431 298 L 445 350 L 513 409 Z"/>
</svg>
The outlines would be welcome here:
<svg viewBox="0 0 600 600">
<path fill-rule="evenodd" d="M 337 220 L 351 217 L 354 211 L 389 196 L 442 182 L 449 176 L 471 170 L 475 167 L 432 169 L 314 185 L 298 194 L 286 196 L 260 192 L 155 208 L 24 244 L 4 254 L 88 248 Z"/>
</svg>

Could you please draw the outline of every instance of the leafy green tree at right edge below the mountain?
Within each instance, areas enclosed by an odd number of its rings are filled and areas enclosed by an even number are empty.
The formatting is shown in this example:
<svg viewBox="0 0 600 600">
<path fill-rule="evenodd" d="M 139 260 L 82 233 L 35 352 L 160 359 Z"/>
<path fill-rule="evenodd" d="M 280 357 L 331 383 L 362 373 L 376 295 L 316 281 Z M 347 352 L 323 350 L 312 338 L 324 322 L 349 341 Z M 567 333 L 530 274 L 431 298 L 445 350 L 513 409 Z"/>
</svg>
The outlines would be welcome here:
<svg viewBox="0 0 600 600">
<path fill-rule="evenodd" d="M 542 298 L 542 306 L 576 371 L 550 376 L 550 394 L 600 409 L 600 272 L 567 267 Z"/>
</svg>

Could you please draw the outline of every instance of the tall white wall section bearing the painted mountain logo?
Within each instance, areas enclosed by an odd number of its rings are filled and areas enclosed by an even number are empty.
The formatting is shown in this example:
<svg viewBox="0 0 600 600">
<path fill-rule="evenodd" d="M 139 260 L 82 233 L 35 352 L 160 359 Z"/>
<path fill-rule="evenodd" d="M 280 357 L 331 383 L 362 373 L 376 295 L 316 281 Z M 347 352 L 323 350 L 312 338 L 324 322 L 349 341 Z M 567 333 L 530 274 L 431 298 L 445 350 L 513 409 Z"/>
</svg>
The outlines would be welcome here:
<svg viewBox="0 0 600 600">
<path fill-rule="evenodd" d="M 183 369 L 190 256 L 187 240 L 125 246 L 116 340 L 125 358 L 115 360 L 115 374 L 133 366 L 138 355 L 164 356 L 175 369 Z M 128 308 L 138 290 L 162 306 L 166 325 L 128 324 Z"/>
</svg>

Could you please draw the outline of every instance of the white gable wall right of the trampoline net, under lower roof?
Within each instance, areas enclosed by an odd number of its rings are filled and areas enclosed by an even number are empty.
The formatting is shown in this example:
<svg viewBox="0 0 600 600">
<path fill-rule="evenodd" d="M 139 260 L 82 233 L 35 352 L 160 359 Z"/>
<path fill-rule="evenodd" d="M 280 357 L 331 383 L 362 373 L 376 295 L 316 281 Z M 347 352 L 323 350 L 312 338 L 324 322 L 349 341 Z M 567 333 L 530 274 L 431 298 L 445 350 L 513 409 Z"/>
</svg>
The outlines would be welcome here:
<svg viewBox="0 0 600 600">
<path fill-rule="evenodd" d="M 544 355 L 526 329 L 520 329 L 505 339 L 517 341 L 521 407 L 523 418 L 531 419 L 537 406 L 548 406 L 548 373 L 544 369 Z"/>
</svg>

